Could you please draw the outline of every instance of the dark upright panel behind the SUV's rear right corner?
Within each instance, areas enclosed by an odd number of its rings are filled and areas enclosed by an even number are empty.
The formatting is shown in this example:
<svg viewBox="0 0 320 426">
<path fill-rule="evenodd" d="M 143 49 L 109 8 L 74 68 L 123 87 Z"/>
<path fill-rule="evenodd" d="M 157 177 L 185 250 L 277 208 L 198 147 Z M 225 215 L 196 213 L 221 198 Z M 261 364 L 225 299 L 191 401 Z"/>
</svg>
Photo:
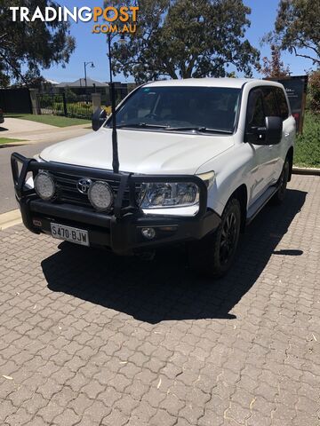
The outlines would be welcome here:
<svg viewBox="0 0 320 426">
<path fill-rule="evenodd" d="M 292 115 L 297 123 L 297 132 L 302 133 L 303 117 L 306 107 L 308 75 L 294 75 L 290 77 L 266 78 L 284 84 L 288 96 Z"/>
</svg>

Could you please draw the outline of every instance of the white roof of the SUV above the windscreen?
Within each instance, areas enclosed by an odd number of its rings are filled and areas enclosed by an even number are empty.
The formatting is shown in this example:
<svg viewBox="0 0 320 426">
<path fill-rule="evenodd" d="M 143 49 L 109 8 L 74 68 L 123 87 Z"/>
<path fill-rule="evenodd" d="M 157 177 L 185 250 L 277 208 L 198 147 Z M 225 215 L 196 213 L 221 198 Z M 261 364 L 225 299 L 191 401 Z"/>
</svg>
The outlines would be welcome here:
<svg viewBox="0 0 320 426">
<path fill-rule="evenodd" d="M 258 78 L 186 78 L 181 80 L 162 80 L 159 82 L 147 83 L 148 86 L 204 86 L 204 87 L 234 87 L 242 88 L 245 83 L 259 83 L 276 85 L 274 82 L 259 80 Z"/>
</svg>

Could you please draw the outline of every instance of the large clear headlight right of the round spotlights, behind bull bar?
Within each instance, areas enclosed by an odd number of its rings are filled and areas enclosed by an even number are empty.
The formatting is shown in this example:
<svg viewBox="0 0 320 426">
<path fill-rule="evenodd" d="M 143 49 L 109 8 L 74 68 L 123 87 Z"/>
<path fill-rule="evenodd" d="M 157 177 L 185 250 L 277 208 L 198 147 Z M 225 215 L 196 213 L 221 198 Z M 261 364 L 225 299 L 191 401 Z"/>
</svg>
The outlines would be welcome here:
<svg viewBox="0 0 320 426">
<path fill-rule="evenodd" d="M 186 207 L 199 201 L 199 191 L 193 183 L 150 183 L 142 184 L 141 209 Z"/>
</svg>

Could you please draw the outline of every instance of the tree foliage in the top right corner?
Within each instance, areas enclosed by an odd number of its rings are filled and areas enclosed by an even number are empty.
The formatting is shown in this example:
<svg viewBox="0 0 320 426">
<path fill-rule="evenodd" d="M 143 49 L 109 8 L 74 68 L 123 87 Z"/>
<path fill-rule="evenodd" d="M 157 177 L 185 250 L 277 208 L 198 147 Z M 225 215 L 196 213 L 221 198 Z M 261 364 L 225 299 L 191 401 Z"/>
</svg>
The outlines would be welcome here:
<svg viewBox="0 0 320 426">
<path fill-rule="evenodd" d="M 320 2 L 280 0 L 274 35 L 282 50 L 320 65 Z"/>
</svg>

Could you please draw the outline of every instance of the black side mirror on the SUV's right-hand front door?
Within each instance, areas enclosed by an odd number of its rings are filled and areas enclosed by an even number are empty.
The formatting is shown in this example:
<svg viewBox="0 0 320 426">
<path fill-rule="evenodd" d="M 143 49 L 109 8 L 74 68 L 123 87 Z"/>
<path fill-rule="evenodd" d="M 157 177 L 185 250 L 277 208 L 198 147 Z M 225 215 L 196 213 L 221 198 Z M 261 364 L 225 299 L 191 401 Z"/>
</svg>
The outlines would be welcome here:
<svg viewBox="0 0 320 426">
<path fill-rule="evenodd" d="M 276 145 L 282 138 L 283 119 L 266 117 L 264 127 L 250 127 L 245 131 L 244 142 L 253 145 Z"/>
</svg>

